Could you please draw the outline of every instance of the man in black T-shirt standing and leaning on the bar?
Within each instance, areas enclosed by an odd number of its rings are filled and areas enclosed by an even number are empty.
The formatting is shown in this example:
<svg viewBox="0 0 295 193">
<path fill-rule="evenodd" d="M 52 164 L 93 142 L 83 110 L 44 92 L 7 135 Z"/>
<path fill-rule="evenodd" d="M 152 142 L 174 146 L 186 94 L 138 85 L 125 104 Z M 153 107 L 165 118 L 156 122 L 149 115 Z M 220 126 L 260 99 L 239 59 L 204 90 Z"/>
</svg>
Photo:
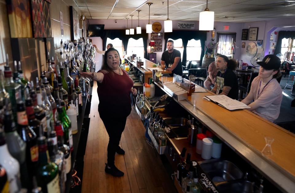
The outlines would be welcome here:
<svg viewBox="0 0 295 193">
<path fill-rule="evenodd" d="M 168 71 L 172 71 L 171 76 L 173 74 L 182 76 L 180 51 L 174 49 L 174 42 L 172 40 L 167 41 L 167 50 L 162 54 L 161 67 L 164 69 L 165 66 Z"/>
</svg>

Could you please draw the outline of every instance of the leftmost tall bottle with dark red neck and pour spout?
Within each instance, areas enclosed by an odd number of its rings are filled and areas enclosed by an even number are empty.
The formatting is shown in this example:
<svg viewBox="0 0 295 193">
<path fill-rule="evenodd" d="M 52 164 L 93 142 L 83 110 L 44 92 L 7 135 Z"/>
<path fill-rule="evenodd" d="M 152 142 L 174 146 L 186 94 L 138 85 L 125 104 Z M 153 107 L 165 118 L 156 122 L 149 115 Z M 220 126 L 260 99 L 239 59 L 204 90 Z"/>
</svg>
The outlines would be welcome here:
<svg viewBox="0 0 295 193">
<path fill-rule="evenodd" d="M 6 92 L 8 92 L 9 97 L 10 97 L 10 101 L 11 101 L 11 109 L 13 112 L 13 116 L 14 116 L 14 121 L 17 121 L 17 117 L 16 117 L 16 104 L 18 101 L 20 101 L 22 99 L 22 92 L 21 92 L 21 85 L 18 83 L 15 83 L 12 80 L 12 72 L 11 72 L 11 68 L 9 67 L 8 64 L 8 59 L 6 59 L 6 65 L 4 67 L 4 77 L 5 77 L 5 90 Z"/>
</svg>

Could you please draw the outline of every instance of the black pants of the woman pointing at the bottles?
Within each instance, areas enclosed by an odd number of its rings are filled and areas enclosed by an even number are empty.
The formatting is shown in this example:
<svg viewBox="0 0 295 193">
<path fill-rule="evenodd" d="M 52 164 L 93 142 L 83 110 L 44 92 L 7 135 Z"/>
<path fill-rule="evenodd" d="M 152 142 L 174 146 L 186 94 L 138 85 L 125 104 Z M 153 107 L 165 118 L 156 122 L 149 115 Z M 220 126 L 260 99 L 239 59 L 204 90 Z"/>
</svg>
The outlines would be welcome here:
<svg viewBox="0 0 295 193">
<path fill-rule="evenodd" d="M 118 149 L 121 135 L 124 131 L 127 117 L 100 117 L 108 132 L 108 166 L 115 164 L 115 154 Z"/>
</svg>

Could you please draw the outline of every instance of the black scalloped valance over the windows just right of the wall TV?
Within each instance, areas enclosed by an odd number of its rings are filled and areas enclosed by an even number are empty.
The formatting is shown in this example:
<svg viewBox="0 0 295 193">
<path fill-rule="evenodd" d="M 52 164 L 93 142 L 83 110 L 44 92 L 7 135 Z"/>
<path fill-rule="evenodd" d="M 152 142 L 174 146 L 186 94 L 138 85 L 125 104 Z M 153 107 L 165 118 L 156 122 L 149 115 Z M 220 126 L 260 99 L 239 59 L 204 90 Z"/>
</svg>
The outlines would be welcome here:
<svg viewBox="0 0 295 193">
<path fill-rule="evenodd" d="M 148 42 L 148 34 L 145 30 L 141 30 L 141 34 L 134 34 L 134 35 L 126 35 L 125 30 L 104 30 L 104 35 L 101 37 L 103 41 L 103 50 L 107 46 L 107 38 L 115 39 L 119 38 L 123 42 L 124 51 L 127 51 L 128 41 L 129 38 L 133 39 L 140 39 L 142 38 L 144 41 L 144 58 L 148 59 L 148 51 L 147 51 L 147 42 Z"/>
</svg>

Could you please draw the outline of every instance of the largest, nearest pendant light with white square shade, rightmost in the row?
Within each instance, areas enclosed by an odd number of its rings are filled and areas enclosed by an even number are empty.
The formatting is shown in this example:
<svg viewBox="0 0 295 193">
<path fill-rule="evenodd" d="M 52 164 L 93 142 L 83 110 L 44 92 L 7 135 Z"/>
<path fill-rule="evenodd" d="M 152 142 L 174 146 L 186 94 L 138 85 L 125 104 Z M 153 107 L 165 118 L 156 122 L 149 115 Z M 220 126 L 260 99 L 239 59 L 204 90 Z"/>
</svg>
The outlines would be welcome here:
<svg viewBox="0 0 295 193">
<path fill-rule="evenodd" d="M 199 30 L 213 30 L 214 28 L 214 11 L 209 11 L 208 0 L 206 4 L 206 9 L 200 12 L 199 18 Z"/>
</svg>

